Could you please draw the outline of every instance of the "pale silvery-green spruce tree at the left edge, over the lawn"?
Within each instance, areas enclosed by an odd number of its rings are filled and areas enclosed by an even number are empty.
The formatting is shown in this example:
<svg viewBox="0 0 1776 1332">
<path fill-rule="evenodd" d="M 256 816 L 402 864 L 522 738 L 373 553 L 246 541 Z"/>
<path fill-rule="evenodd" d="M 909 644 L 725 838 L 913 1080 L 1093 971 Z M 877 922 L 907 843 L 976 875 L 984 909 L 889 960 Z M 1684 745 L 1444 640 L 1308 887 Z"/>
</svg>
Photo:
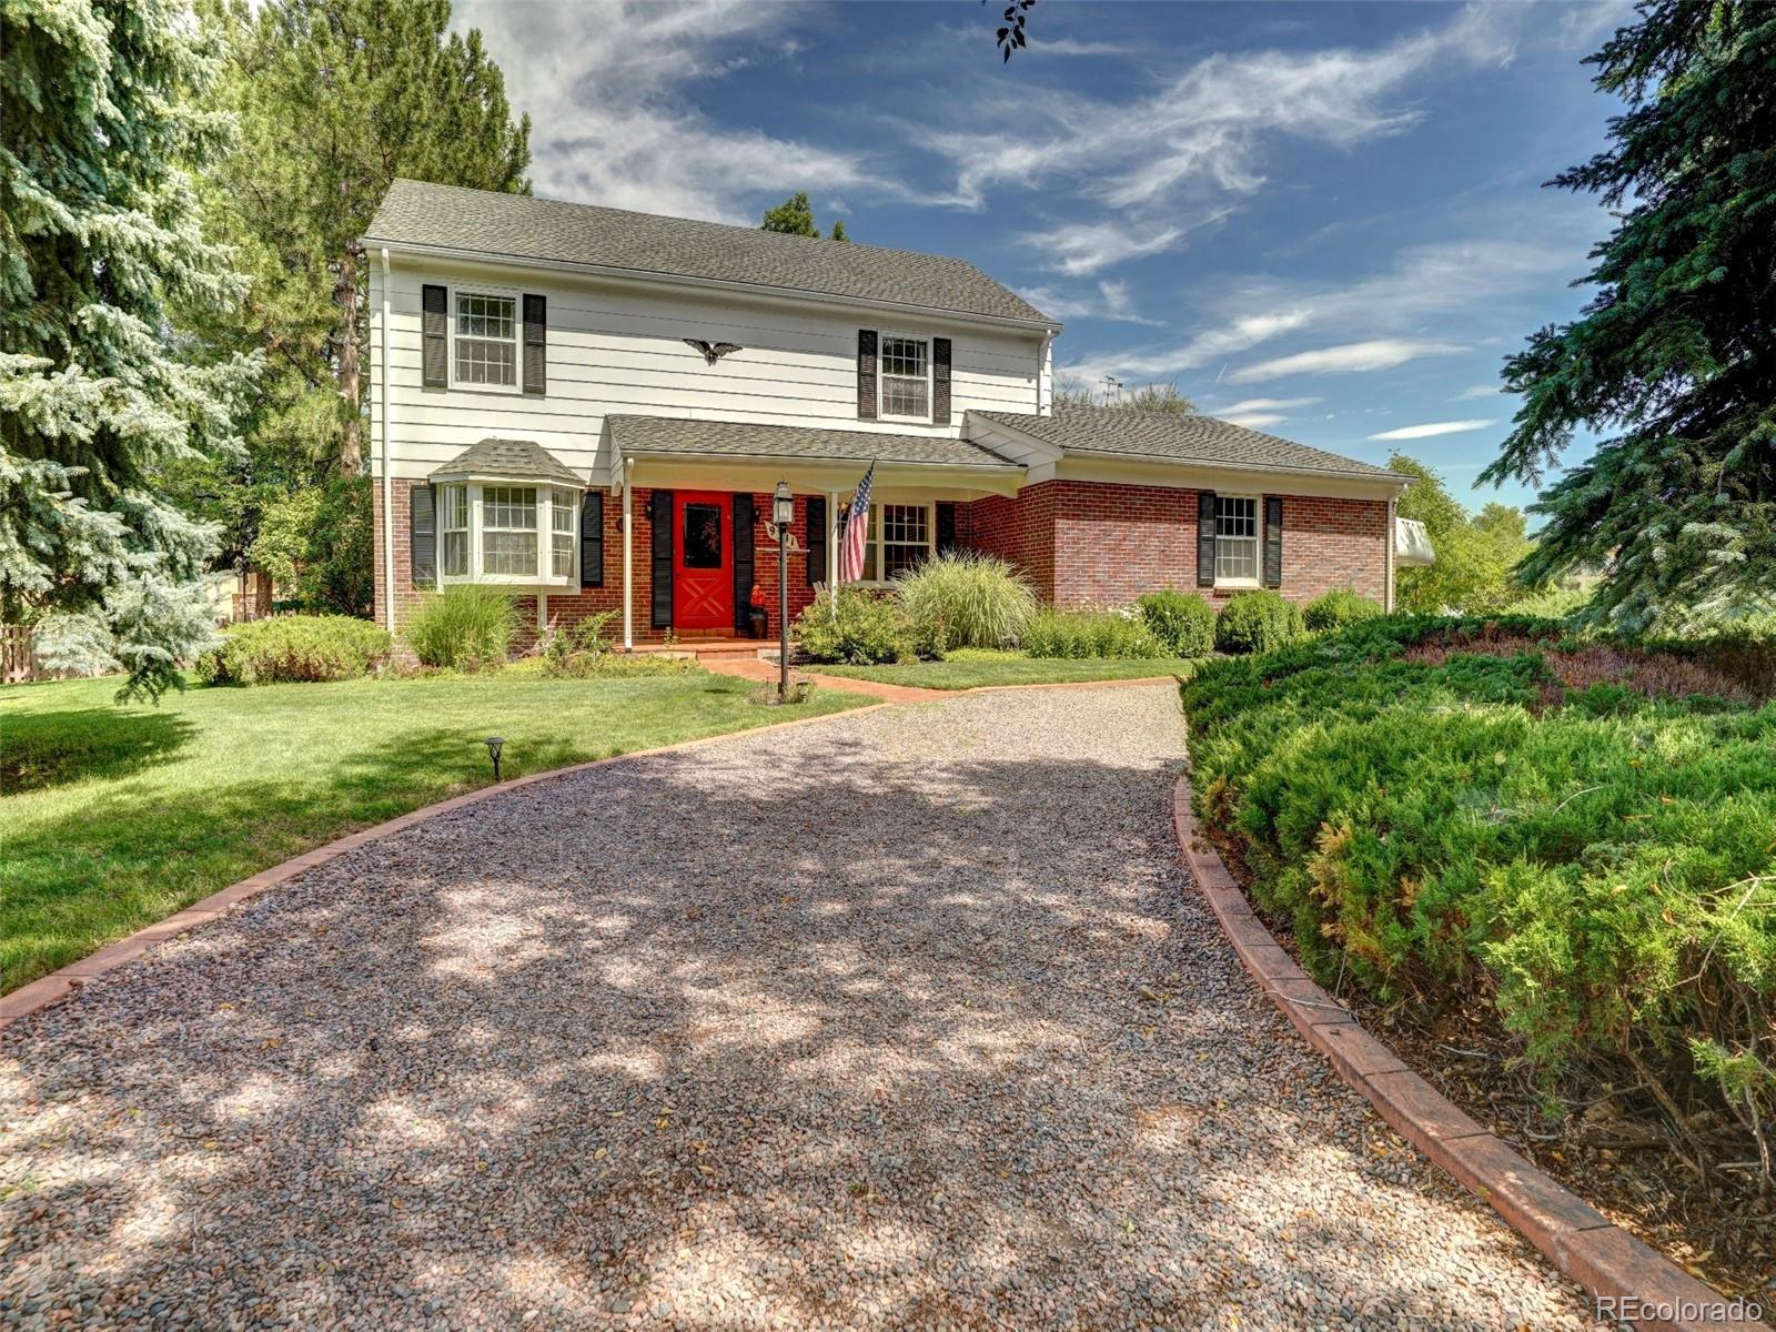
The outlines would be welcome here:
<svg viewBox="0 0 1776 1332">
<path fill-rule="evenodd" d="M 174 334 L 240 293 L 181 169 L 227 146 L 213 69 L 172 0 L 0 5 L 0 616 L 55 666 L 123 666 L 126 696 L 213 636 L 215 531 L 155 478 L 238 449 L 252 373 Z"/>
</svg>

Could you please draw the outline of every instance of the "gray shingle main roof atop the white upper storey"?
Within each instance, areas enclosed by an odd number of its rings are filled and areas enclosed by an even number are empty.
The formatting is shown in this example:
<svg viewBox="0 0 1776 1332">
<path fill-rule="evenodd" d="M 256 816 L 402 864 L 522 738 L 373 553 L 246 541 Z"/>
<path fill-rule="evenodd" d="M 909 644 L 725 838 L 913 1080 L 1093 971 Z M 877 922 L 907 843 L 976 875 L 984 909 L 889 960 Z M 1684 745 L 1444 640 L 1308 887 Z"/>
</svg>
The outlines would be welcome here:
<svg viewBox="0 0 1776 1332">
<path fill-rule="evenodd" d="M 879 245 L 398 179 L 366 242 L 590 263 L 1050 323 L 971 263 Z"/>
</svg>

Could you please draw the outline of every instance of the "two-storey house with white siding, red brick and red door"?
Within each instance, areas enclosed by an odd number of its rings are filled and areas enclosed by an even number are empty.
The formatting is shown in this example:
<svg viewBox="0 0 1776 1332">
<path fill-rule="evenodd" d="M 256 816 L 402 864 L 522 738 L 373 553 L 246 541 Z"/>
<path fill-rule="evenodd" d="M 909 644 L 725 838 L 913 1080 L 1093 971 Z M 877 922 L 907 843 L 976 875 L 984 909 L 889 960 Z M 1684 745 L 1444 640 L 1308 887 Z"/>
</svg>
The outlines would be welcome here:
<svg viewBox="0 0 1776 1332">
<path fill-rule="evenodd" d="M 838 570 L 966 547 L 1057 604 L 1149 588 L 1392 600 L 1405 478 L 1202 416 L 1051 408 L 1060 325 L 970 263 L 396 181 L 371 258 L 377 616 L 456 581 L 629 646 L 776 634 Z M 757 609 L 755 609 L 757 607 Z"/>
</svg>

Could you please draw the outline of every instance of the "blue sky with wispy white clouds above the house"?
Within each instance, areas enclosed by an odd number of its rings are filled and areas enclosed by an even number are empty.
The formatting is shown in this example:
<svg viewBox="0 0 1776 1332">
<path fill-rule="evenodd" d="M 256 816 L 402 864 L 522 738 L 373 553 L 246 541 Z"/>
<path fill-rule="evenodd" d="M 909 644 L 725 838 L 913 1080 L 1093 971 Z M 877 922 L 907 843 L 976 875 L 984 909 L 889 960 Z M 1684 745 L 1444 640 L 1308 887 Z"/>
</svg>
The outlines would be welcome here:
<svg viewBox="0 0 1776 1332">
<path fill-rule="evenodd" d="M 1067 325 L 1057 371 L 1472 490 L 1502 357 L 1607 229 L 1542 181 L 1604 146 L 1620 4 L 613 5 L 469 0 L 538 194 L 957 254 Z M 1405 433 L 1399 433 L 1405 432 Z M 1392 439 L 1387 439 L 1392 435 Z"/>
</svg>

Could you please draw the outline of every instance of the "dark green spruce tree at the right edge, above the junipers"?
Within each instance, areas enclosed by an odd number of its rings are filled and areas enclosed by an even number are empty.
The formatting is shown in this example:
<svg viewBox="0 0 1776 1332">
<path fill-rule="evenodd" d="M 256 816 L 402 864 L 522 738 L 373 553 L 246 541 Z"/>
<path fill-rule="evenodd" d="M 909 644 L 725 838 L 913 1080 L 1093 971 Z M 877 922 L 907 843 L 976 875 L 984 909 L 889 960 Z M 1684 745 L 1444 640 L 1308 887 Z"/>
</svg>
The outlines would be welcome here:
<svg viewBox="0 0 1776 1332">
<path fill-rule="evenodd" d="M 1552 183 L 1616 229 L 1598 293 L 1506 362 L 1524 394 L 1483 480 L 1540 481 L 1529 579 L 1602 567 L 1593 618 L 1682 625 L 1776 604 L 1776 5 L 1657 0 L 1590 57 L 1627 99 L 1611 146 Z"/>
</svg>

